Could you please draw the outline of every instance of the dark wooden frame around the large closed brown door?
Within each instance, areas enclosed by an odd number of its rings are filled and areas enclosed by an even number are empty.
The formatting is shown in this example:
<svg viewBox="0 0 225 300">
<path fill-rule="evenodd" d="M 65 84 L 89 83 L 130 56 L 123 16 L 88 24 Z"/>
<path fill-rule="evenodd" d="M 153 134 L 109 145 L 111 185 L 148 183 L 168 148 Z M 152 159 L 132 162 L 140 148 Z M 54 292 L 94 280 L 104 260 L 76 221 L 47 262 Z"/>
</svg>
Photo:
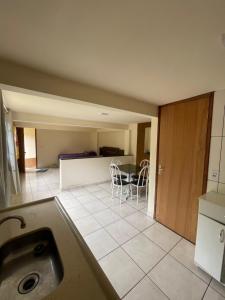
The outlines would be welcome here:
<svg viewBox="0 0 225 300">
<path fill-rule="evenodd" d="M 154 219 L 156 218 L 156 206 L 157 206 L 157 188 L 158 188 L 158 167 L 159 167 L 159 138 L 160 138 L 160 121 L 161 121 L 161 109 L 162 107 L 173 105 L 176 103 L 185 103 L 189 101 L 198 100 L 204 96 L 209 97 L 209 110 L 208 110 L 208 124 L 207 124 L 207 134 L 206 134 L 206 145 L 205 145 L 205 163 L 204 163 L 204 172 L 203 172 L 203 188 L 202 194 L 206 192 L 207 181 L 208 181 L 208 167 L 209 167 L 209 154 L 210 154 L 210 142 L 211 142 L 211 129 L 212 129 L 212 115 L 213 115 L 213 102 L 214 102 L 214 92 L 205 93 L 197 95 L 191 98 L 174 101 L 172 103 L 164 104 L 159 106 L 159 115 L 158 115 L 158 133 L 157 133 L 157 157 L 156 157 L 156 181 L 155 181 L 155 203 L 154 203 Z"/>
</svg>

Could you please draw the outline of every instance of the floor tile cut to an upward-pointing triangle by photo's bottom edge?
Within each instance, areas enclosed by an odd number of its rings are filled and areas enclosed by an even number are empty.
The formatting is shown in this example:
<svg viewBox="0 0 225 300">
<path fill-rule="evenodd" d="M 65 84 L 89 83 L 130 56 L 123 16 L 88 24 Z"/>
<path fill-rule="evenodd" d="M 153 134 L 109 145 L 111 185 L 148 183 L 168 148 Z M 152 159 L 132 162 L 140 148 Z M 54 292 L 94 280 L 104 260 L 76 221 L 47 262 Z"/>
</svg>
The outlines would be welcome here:
<svg viewBox="0 0 225 300">
<path fill-rule="evenodd" d="M 148 278 L 142 279 L 124 298 L 124 300 L 167 300 L 165 294 Z"/>
</svg>

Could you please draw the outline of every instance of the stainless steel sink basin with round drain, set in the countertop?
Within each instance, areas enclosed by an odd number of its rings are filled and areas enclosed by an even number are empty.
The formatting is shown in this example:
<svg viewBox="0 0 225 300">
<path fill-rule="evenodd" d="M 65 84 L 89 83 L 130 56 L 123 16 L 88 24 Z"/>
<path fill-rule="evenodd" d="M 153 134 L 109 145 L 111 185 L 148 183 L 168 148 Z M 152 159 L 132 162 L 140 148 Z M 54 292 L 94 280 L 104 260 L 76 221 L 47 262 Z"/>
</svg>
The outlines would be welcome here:
<svg viewBox="0 0 225 300">
<path fill-rule="evenodd" d="M 0 248 L 1 299 L 42 299 L 63 278 L 63 266 L 52 232 L 40 229 Z"/>
</svg>

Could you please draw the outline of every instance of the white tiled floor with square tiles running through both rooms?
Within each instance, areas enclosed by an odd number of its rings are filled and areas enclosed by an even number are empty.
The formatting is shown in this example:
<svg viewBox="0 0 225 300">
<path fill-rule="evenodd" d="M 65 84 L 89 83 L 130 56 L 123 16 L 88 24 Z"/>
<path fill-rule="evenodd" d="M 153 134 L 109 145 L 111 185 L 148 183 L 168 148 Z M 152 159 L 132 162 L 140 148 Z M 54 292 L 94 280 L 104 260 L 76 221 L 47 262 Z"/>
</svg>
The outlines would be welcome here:
<svg viewBox="0 0 225 300">
<path fill-rule="evenodd" d="M 225 300 L 194 265 L 194 245 L 146 215 L 147 203 L 111 200 L 108 182 L 60 192 L 58 170 L 27 173 L 12 204 L 57 195 L 121 299 Z"/>
</svg>

